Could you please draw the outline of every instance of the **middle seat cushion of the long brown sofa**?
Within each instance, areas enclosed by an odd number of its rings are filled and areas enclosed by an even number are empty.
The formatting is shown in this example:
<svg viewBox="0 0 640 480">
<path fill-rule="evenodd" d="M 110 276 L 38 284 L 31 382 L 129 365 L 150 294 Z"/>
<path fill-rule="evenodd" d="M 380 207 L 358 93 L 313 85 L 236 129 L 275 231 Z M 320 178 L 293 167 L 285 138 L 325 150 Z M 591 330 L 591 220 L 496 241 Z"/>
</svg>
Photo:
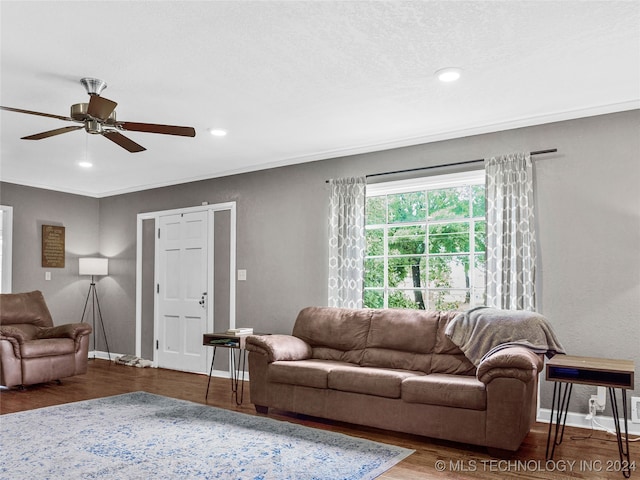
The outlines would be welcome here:
<svg viewBox="0 0 640 480">
<path fill-rule="evenodd" d="M 425 374 L 422 372 L 386 368 L 340 368 L 329 372 L 329 388 L 343 392 L 400 398 L 402 381 L 409 377 L 423 375 Z"/>
</svg>

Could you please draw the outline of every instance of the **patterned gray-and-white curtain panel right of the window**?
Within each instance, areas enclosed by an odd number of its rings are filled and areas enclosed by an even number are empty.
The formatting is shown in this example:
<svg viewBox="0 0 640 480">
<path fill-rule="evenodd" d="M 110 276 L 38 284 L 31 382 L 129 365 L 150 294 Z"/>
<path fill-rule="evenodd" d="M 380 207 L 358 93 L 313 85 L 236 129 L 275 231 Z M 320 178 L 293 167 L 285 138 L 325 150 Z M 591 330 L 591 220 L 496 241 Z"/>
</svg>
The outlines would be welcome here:
<svg viewBox="0 0 640 480">
<path fill-rule="evenodd" d="M 487 305 L 535 311 L 536 233 L 531 155 L 485 161 Z"/>
</svg>

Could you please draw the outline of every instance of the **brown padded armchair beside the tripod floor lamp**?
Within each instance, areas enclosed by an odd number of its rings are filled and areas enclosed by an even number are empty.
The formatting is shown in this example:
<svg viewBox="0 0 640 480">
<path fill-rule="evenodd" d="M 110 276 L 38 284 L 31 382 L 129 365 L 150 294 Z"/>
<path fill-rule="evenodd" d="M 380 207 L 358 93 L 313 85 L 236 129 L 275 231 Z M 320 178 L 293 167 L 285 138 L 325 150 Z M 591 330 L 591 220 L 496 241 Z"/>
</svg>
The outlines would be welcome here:
<svg viewBox="0 0 640 480">
<path fill-rule="evenodd" d="M 0 294 L 0 384 L 32 385 L 86 373 L 91 325 L 53 325 L 42 292 Z"/>
</svg>

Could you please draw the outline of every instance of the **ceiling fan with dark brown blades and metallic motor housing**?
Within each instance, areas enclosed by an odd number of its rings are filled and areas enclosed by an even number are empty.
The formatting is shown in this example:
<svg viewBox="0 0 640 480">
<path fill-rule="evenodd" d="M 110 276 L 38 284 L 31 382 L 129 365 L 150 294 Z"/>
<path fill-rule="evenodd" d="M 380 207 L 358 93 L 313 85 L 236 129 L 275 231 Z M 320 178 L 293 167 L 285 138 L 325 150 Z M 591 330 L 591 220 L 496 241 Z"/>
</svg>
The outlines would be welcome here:
<svg viewBox="0 0 640 480">
<path fill-rule="evenodd" d="M 47 132 L 36 133 L 22 137 L 23 140 L 42 140 L 43 138 L 61 135 L 63 133 L 72 132 L 84 128 L 87 133 L 102 135 L 112 142 L 120 145 L 122 148 L 131 153 L 142 152 L 146 150 L 142 145 L 138 145 L 130 138 L 125 137 L 120 131 L 131 132 L 147 132 L 161 133 L 164 135 L 179 135 L 183 137 L 195 137 L 196 131 L 193 127 L 179 127 L 175 125 L 158 125 L 154 123 L 138 123 L 116 120 L 115 108 L 116 102 L 101 97 L 100 93 L 107 88 L 107 84 L 97 78 L 83 78 L 80 83 L 84 86 L 89 94 L 89 103 L 76 103 L 71 105 L 71 116 L 63 117 L 61 115 L 52 115 L 50 113 L 32 112 L 30 110 L 22 110 L 20 108 L 2 107 L 1 110 L 9 112 L 27 113 L 29 115 L 39 115 L 41 117 L 57 118 L 59 120 L 67 120 L 70 122 L 81 123 L 82 125 L 74 125 L 68 127 L 57 128 Z"/>
</svg>

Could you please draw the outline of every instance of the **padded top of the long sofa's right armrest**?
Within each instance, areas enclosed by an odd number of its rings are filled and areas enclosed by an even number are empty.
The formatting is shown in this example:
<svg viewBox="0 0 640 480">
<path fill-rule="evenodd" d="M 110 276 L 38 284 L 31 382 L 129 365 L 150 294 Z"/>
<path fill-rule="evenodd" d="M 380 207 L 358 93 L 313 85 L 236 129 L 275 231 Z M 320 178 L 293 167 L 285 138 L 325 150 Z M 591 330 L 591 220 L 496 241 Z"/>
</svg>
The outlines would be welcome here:
<svg viewBox="0 0 640 480">
<path fill-rule="evenodd" d="M 525 347 L 507 347 L 485 358 L 476 376 L 487 385 L 495 378 L 515 378 L 529 383 L 542 370 L 540 355 Z"/>
</svg>

